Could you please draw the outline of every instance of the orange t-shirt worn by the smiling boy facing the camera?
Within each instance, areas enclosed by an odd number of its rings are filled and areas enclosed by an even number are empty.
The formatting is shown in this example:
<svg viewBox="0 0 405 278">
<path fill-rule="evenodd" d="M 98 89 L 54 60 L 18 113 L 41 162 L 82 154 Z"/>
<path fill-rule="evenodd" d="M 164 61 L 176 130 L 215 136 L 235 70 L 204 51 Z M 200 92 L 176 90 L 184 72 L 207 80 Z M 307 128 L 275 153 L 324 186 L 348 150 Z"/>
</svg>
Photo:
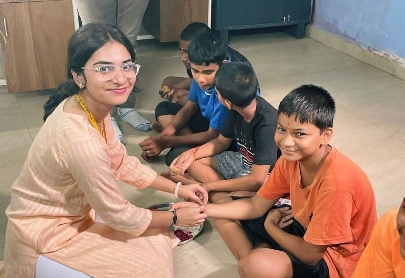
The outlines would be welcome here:
<svg viewBox="0 0 405 278">
<path fill-rule="evenodd" d="M 304 240 L 329 245 L 323 258 L 330 277 L 351 277 L 377 222 L 367 176 L 332 148 L 313 183 L 302 188 L 299 162 L 280 157 L 257 194 L 271 200 L 288 193 L 294 218 L 306 229 Z"/>
</svg>

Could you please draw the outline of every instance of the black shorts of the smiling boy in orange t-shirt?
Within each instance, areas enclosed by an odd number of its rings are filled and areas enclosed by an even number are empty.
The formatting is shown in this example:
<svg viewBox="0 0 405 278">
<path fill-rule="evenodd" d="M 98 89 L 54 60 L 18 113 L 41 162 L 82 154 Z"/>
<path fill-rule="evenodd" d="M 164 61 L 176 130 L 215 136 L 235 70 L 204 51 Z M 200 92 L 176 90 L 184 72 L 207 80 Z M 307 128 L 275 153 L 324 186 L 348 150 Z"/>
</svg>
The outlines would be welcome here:
<svg viewBox="0 0 405 278">
<path fill-rule="evenodd" d="M 251 197 L 232 197 L 232 200 L 243 199 L 243 198 L 251 198 Z M 275 208 L 280 208 L 288 205 L 281 205 L 281 206 L 273 206 L 270 210 Z M 270 244 L 272 249 L 283 251 L 287 254 L 290 258 L 292 264 L 292 277 L 308 277 L 308 278 L 329 278 L 329 268 L 326 264 L 326 261 L 322 258 L 317 264 L 310 266 L 307 265 L 288 251 L 284 250 L 277 244 L 277 242 L 270 237 L 267 233 L 266 229 L 264 228 L 264 221 L 266 220 L 268 212 L 258 219 L 252 220 L 242 220 L 240 221 L 244 231 L 246 232 L 248 238 L 253 244 L 256 243 L 267 243 Z M 289 234 L 304 237 L 305 235 L 305 228 L 294 219 L 292 224 L 288 225 L 283 229 L 283 231 L 288 232 Z"/>
</svg>

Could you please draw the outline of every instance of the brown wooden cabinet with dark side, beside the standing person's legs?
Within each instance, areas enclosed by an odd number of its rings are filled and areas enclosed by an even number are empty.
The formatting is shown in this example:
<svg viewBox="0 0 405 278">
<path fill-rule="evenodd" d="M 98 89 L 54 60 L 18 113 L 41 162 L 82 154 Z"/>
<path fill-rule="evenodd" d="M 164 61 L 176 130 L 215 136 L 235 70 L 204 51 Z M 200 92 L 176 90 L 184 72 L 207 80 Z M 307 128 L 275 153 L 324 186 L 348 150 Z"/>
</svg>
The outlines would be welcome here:
<svg viewBox="0 0 405 278">
<path fill-rule="evenodd" d="M 143 27 L 160 42 L 179 40 L 181 31 L 194 21 L 208 25 L 211 0 L 149 0 Z"/>
</svg>

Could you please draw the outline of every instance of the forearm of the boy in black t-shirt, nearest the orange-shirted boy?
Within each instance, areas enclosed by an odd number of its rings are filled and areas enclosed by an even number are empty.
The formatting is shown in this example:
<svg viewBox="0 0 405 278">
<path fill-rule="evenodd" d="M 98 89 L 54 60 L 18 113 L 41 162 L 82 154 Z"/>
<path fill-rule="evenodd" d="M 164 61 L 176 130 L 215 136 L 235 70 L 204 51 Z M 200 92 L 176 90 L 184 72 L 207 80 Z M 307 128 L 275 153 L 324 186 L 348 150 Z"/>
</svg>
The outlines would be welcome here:
<svg viewBox="0 0 405 278">
<path fill-rule="evenodd" d="M 266 180 L 270 165 L 253 164 L 252 170 L 246 176 L 228 179 L 208 181 L 201 184 L 208 192 L 210 191 L 257 191 Z"/>
</svg>

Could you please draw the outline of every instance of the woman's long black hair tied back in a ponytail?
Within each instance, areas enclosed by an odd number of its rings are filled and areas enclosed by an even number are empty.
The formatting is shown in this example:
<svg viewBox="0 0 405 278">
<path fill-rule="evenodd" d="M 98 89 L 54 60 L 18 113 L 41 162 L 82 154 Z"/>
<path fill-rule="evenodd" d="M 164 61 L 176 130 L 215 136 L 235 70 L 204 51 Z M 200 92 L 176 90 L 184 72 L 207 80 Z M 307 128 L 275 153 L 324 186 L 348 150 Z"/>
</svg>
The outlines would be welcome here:
<svg viewBox="0 0 405 278">
<path fill-rule="evenodd" d="M 73 80 L 71 70 L 78 74 L 83 73 L 81 68 L 84 67 L 93 53 L 112 41 L 124 45 L 131 55 L 132 61 L 135 61 L 131 42 L 114 25 L 93 22 L 82 26 L 72 35 L 68 45 L 67 80 L 52 91 L 50 98 L 44 104 L 44 121 L 64 99 L 79 92 L 79 87 Z"/>
</svg>

